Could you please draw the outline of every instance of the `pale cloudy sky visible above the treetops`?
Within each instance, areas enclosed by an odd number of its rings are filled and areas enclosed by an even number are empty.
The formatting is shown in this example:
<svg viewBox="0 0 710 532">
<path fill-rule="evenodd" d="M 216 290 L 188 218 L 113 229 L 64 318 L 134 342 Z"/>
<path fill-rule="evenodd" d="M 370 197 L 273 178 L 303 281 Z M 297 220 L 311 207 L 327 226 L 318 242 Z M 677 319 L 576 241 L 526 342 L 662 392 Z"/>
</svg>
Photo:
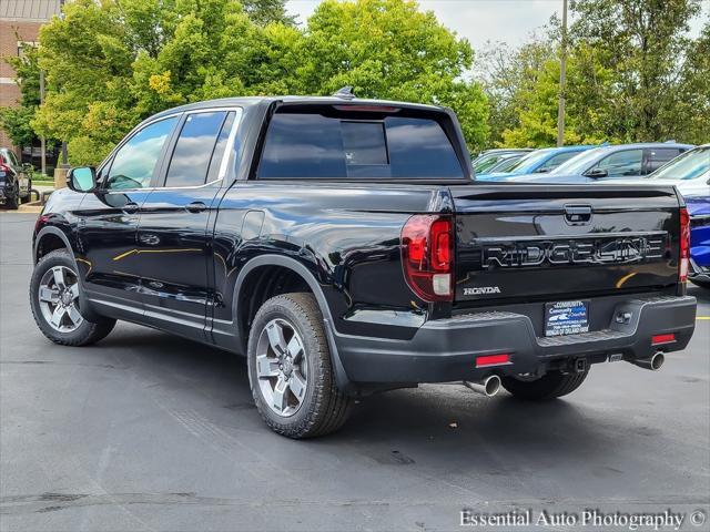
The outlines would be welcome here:
<svg viewBox="0 0 710 532">
<path fill-rule="evenodd" d="M 318 0 L 287 0 L 286 9 L 305 22 L 318 3 Z M 488 40 L 511 47 L 523 44 L 555 12 L 561 14 L 562 0 L 420 0 L 419 4 L 434 11 L 459 37 L 468 39 L 474 50 L 481 50 Z M 707 18 L 710 0 L 703 0 L 703 4 Z M 693 33 L 699 32 L 700 25 L 696 20 Z"/>
</svg>

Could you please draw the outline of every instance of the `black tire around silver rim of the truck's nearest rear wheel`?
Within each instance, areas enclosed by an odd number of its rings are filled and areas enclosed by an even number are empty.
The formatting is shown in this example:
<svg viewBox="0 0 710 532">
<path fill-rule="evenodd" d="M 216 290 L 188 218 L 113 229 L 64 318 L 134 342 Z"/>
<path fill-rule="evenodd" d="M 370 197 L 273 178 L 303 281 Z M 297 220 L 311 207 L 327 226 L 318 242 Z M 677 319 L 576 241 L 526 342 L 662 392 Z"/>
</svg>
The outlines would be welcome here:
<svg viewBox="0 0 710 532">
<path fill-rule="evenodd" d="M 268 406 L 257 377 L 257 345 L 273 320 L 292 326 L 303 341 L 307 364 L 305 395 L 295 413 L 284 417 Z M 295 357 L 294 357 L 295 360 Z M 335 382 L 323 316 L 312 294 L 285 294 L 268 299 L 256 313 L 247 349 L 248 381 L 256 408 L 275 432 L 294 439 L 325 436 L 345 423 L 353 400 Z M 270 385 L 271 386 L 271 385 Z"/>
</svg>

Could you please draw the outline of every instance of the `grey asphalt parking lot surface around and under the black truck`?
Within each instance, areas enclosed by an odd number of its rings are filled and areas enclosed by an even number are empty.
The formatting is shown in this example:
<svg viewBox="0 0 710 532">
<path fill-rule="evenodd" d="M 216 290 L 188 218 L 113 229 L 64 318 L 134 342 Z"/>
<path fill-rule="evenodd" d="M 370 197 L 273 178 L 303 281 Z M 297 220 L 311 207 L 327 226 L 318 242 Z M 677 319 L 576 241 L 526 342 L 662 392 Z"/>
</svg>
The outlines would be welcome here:
<svg viewBox="0 0 710 532">
<path fill-rule="evenodd" d="M 463 509 L 670 510 L 709 530 L 689 515 L 710 518 L 710 319 L 660 371 L 596 366 L 564 400 L 424 386 L 291 441 L 229 354 L 129 324 L 90 348 L 45 340 L 27 294 L 33 221 L 0 214 L 3 531 L 455 530 Z M 710 316 L 710 291 L 690 291 Z M 534 524 L 515 530 L 567 529 Z"/>
</svg>

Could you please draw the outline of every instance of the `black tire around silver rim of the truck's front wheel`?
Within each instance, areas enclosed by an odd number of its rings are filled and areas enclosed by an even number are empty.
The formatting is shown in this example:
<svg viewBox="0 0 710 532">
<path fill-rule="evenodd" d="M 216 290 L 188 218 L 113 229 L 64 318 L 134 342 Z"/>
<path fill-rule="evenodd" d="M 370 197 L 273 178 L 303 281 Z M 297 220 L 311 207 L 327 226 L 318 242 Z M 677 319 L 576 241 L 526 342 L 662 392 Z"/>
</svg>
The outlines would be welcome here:
<svg viewBox="0 0 710 532">
<path fill-rule="evenodd" d="M 77 272 L 77 265 L 67 249 L 55 249 L 48 253 L 37 263 L 32 272 L 30 279 L 30 305 L 37 326 L 47 338 L 61 346 L 89 346 L 105 338 L 115 326 L 115 319 L 105 318 L 101 319 L 100 323 L 94 323 L 83 318 L 74 330 L 63 332 L 53 328 L 44 317 L 42 308 L 40 307 L 40 284 L 42 277 L 57 266 L 63 266 L 73 273 Z M 78 307 L 77 309 L 79 314 L 81 314 L 81 309 Z"/>
</svg>

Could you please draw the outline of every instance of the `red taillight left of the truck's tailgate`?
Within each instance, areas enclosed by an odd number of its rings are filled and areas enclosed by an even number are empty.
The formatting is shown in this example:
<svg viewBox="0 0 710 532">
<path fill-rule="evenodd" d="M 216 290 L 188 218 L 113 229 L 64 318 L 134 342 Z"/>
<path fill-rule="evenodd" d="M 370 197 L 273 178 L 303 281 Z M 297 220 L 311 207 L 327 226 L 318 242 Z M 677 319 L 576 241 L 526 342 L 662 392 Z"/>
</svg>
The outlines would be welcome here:
<svg viewBox="0 0 710 532">
<path fill-rule="evenodd" d="M 409 288 L 425 301 L 454 299 L 454 238 L 448 216 L 415 215 L 402 228 L 402 264 Z"/>
</svg>

